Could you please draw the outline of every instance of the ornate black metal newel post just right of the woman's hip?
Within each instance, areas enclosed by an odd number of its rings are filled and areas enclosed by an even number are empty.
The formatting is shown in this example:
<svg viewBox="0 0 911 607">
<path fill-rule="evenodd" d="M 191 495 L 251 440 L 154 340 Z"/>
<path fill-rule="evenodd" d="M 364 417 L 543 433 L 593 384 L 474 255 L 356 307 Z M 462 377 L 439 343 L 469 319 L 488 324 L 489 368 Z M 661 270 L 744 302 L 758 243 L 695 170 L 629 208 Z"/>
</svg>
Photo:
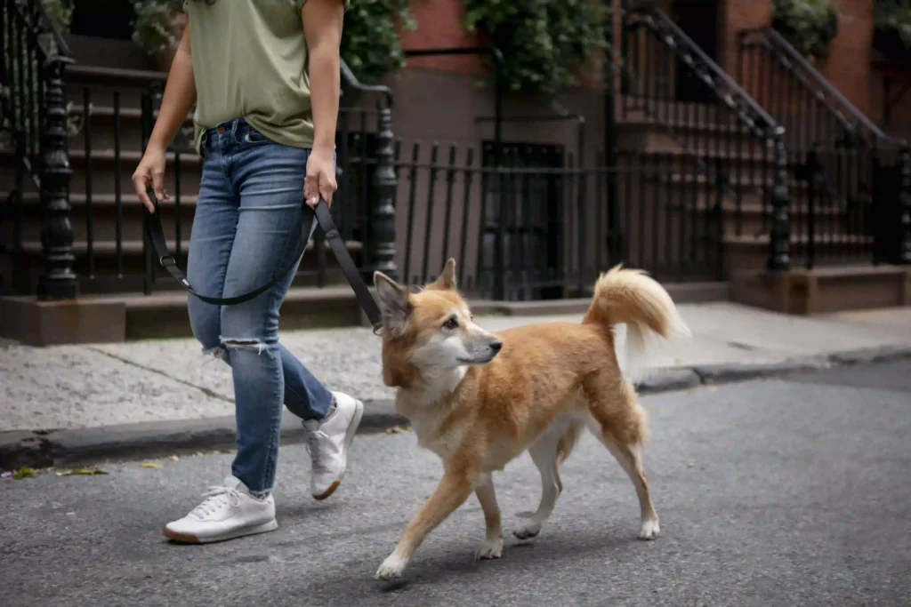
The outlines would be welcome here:
<svg viewBox="0 0 911 607">
<path fill-rule="evenodd" d="M 371 184 L 370 255 L 371 273 L 380 270 L 396 278 L 395 267 L 395 177 L 393 154 L 393 115 L 390 103 L 378 103 L 376 167 Z M 369 280 L 372 282 L 372 278 Z"/>
</svg>

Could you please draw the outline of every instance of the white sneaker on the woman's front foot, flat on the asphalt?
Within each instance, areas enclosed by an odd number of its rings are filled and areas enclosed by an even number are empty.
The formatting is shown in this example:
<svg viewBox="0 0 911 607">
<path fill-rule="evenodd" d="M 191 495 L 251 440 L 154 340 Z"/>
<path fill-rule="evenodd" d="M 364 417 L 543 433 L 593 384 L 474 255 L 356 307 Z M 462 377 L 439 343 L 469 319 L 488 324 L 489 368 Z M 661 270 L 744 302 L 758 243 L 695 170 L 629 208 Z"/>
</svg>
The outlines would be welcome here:
<svg viewBox="0 0 911 607">
<path fill-rule="evenodd" d="M 223 486 L 210 487 L 205 497 L 187 516 L 165 525 L 165 536 L 199 544 L 278 529 L 271 494 L 255 498 L 240 479 L 229 476 Z"/>
</svg>

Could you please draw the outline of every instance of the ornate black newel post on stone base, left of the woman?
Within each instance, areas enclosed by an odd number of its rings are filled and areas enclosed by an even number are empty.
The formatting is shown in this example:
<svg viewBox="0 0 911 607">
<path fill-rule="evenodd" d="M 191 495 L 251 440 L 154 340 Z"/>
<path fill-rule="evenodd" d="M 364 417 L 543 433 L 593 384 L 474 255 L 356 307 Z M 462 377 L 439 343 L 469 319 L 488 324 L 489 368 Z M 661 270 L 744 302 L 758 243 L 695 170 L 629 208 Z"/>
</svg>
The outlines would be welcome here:
<svg viewBox="0 0 911 607">
<path fill-rule="evenodd" d="M 73 60 L 52 56 L 44 66 L 46 83 L 41 128 L 41 248 L 45 271 L 38 279 L 39 299 L 75 299 L 79 285 L 73 264 L 69 181 L 73 169 L 67 150 L 67 98 L 64 70 Z"/>
</svg>

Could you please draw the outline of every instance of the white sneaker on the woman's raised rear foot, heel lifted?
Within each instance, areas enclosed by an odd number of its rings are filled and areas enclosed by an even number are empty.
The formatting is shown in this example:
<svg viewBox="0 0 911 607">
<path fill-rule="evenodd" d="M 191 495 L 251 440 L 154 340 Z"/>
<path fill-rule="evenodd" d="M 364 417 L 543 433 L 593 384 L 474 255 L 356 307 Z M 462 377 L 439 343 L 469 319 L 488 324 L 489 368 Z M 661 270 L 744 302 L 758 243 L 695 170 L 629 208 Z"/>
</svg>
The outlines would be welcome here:
<svg viewBox="0 0 911 607">
<path fill-rule="evenodd" d="M 333 396 L 335 406 L 324 420 L 303 422 L 310 433 L 307 437 L 312 460 L 310 492 L 317 500 L 328 498 L 342 482 L 348 448 L 363 416 L 363 402 L 341 392 L 333 392 Z"/>
</svg>

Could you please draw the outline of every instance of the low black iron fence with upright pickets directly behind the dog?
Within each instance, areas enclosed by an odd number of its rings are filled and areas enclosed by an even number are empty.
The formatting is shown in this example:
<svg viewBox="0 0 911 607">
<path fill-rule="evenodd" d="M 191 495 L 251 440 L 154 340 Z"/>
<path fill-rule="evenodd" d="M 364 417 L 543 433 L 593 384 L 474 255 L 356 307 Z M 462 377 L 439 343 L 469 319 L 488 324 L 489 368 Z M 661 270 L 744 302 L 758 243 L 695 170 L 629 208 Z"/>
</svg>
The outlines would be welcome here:
<svg viewBox="0 0 911 607">
<path fill-rule="evenodd" d="M 496 165 L 493 148 L 396 146 L 398 266 L 408 282 L 432 280 L 449 257 L 478 298 L 585 297 L 619 262 L 661 280 L 720 278 L 718 201 L 679 182 L 679 155 L 617 150 L 608 165 L 603 152 L 581 162 L 560 147 L 505 142 Z M 609 179 L 623 200 L 615 209 Z M 623 243 L 616 254 L 612 242 Z"/>
</svg>

